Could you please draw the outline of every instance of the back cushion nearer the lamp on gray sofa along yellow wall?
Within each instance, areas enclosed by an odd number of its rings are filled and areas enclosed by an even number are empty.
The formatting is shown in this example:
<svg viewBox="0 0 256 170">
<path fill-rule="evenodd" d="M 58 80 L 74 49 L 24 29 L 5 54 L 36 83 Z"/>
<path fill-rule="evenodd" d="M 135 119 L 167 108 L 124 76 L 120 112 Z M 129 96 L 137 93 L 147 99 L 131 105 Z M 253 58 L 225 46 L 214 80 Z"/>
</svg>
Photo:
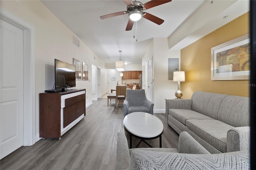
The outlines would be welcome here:
<svg viewBox="0 0 256 170">
<path fill-rule="evenodd" d="M 191 97 L 193 111 L 217 119 L 220 103 L 227 95 L 195 91 Z"/>
</svg>

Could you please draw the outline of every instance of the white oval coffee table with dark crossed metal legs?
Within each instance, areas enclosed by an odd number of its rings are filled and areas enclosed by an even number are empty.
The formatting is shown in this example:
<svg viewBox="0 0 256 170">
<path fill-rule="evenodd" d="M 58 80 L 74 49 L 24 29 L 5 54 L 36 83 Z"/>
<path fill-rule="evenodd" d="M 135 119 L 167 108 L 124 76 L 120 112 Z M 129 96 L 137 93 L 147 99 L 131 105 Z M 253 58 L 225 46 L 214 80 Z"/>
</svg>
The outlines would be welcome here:
<svg viewBox="0 0 256 170">
<path fill-rule="evenodd" d="M 150 113 L 133 112 L 124 117 L 124 128 L 130 134 L 130 148 L 132 148 L 132 136 L 140 138 L 140 142 L 159 137 L 160 148 L 162 148 L 162 133 L 164 125 L 156 116 Z M 138 145 L 140 144 L 138 143 Z M 136 146 L 136 148 L 138 147 Z M 152 148 L 152 146 L 150 146 Z"/>
</svg>

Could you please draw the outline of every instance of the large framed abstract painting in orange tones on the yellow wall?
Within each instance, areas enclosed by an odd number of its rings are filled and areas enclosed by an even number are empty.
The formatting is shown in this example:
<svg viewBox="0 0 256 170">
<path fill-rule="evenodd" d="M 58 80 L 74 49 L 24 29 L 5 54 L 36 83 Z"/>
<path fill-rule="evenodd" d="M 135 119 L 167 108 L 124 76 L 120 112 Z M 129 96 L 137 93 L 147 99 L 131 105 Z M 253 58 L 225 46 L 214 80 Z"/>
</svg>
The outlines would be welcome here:
<svg viewBox="0 0 256 170">
<path fill-rule="evenodd" d="M 211 48 L 211 80 L 248 79 L 250 79 L 248 34 Z"/>
</svg>

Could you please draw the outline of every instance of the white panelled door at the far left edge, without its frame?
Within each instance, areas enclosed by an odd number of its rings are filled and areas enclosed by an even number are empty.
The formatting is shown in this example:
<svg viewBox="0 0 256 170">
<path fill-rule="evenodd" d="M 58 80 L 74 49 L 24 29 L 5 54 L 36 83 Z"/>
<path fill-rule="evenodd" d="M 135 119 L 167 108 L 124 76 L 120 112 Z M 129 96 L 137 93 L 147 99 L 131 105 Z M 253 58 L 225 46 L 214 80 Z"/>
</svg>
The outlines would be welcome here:
<svg viewBox="0 0 256 170">
<path fill-rule="evenodd" d="M 23 30 L 1 20 L 0 159 L 23 145 Z"/>
</svg>

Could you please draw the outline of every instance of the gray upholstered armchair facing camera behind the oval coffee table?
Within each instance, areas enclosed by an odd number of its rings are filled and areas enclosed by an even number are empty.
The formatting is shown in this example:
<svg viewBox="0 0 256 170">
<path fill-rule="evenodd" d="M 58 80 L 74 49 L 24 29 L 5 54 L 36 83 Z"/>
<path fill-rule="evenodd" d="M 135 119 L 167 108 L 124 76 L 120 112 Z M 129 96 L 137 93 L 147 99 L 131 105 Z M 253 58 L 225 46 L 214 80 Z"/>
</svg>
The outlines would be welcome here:
<svg viewBox="0 0 256 170">
<path fill-rule="evenodd" d="M 154 103 L 146 98 L 145 90 L 126 90 L 124 100 L 124 117 L 132 112 L 146 112 L 153 115 Z"/>
</svg>

